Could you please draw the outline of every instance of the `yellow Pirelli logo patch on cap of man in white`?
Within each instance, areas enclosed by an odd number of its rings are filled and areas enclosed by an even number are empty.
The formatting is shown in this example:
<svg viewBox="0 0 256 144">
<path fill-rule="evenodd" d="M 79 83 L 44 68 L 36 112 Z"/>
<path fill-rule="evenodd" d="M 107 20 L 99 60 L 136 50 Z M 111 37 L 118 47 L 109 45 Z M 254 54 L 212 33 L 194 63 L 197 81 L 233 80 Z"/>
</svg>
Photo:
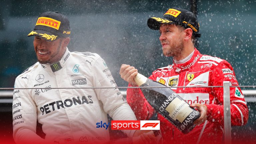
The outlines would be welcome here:
<svg viewBox="0 0 256 144">
<path fill-rule="evenodd" d="M 36 25 L 44 25 L 44 26 L 48 26 L 48 27 L 54 28 L 56 30 L 59 30 L 60 23 L 61 23 L 60 21 L 57 21 L 52 18 L 39 17 L 37 19 Z"/>
</svg>

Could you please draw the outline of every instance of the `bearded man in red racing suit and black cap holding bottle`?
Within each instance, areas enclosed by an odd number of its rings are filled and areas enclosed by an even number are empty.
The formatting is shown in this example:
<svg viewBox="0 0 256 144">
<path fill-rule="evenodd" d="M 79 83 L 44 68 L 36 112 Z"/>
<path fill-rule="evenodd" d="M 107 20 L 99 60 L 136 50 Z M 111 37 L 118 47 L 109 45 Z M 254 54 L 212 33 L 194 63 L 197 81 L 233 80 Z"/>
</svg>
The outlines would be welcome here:
<svg viewBox="0 0 256 144">
<path fill-rule="evenodd" d="M 163 18 L 149 18 L 148 27 L 159 30 L 163 54 L 173 57 L 172 65 L 155 70 L 149 79 L 170 87 L 201 113 L 194 122 L 196 127 L 188 134 L 183 134 L 158 113 L 164 143 L 223 142 L 223 87 L 205 86 L 223 86 L 223 81 L 230 81 L 230 86 L 238 86 L 233 68 L 226 60 L 202 55 L 194 47 L 194 37 L 200 37 L 200 34 L 199 24 L 192 12 L 170 8 Z M 123 64 L 120 75 L 129 82 L 129 86 L 136 86 L 133 78 L 137 71 L 134 67 Z M 148 120 L 155 113 L 139 88 L 127 89 L 127 102 L 138 120 Z M 231 125 L 245 125 L 248 108 L 240 87 L 230 87 L 230 104 Z"/>
</svg>

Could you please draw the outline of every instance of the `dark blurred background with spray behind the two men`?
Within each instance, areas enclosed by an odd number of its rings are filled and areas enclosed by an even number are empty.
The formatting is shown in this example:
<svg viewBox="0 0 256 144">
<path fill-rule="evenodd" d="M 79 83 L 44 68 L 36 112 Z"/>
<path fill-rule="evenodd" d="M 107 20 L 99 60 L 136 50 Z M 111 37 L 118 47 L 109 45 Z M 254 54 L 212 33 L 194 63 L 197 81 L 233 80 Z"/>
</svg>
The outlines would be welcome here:
<svg viewBox="0 0 256 144">
<path fill-rule="evenodd" d="M 148 77 L 155 69 L 172 64 L 172 58 L 162 54 L 159 31 L 147 27 L 148 18 L 160 17 L 170 7 L 197 15 L 201 38 L 196 47 L 202 54 L 229 61 L 240 85 L 256 84 L 255 0 L 1 0 L 0 87 L 13 87 L 15 78 L 37 62 L 34 37 L 27 35 L 45 11 L 59 11 L 69 18 L 69 50 L 98 53 L 118 86 L 128 85 L 120 78 L 121 64 L 130 64 Z M 249 89 L 254 87 L 242 88 Z M 1 129 L 5 129 L 0 138 L 11 138 L 11 105 L 0 101 Z M 256 103 L 251 100 L 247 105 L 249 122 L 232 127 L 233 140 L 256 138 Z"/>
</svg>

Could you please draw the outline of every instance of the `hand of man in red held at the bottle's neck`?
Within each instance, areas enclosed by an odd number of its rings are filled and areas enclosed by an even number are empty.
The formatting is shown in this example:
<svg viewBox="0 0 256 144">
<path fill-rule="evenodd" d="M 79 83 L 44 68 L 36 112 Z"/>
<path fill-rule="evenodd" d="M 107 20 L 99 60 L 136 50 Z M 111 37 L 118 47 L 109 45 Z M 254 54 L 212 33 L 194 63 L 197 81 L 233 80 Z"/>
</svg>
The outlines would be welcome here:
<svg viewBox="0 0 256 144">
<path fill-rule="evenodd" d="M 133 78 L 138 74 L 138 70 L 133 66 L 122 64 L 119 74 L 121 75 L 122 79 L 130 83 L 132 86 L 137 86 Z"/>
</svg>

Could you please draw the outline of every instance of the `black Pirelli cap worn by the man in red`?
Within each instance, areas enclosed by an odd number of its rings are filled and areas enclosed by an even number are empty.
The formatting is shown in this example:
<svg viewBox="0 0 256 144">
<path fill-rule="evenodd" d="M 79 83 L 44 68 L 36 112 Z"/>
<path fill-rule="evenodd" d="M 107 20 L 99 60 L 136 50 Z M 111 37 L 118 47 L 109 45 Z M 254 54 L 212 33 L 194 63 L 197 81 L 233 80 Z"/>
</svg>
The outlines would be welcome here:
<svg viewBox="0 0 256 144">
<path fill-rule="evenodd" d="M 200 37 L 199 23 L 196 16 L 185 9 L 172 7 L 163 16 L 151 17 L 148 19 L 148 27 L 153 30 L 159 30 L 160 24 L 177 24 L 184 28 L 191 28 L 195 37 Z"/>
</svg>

